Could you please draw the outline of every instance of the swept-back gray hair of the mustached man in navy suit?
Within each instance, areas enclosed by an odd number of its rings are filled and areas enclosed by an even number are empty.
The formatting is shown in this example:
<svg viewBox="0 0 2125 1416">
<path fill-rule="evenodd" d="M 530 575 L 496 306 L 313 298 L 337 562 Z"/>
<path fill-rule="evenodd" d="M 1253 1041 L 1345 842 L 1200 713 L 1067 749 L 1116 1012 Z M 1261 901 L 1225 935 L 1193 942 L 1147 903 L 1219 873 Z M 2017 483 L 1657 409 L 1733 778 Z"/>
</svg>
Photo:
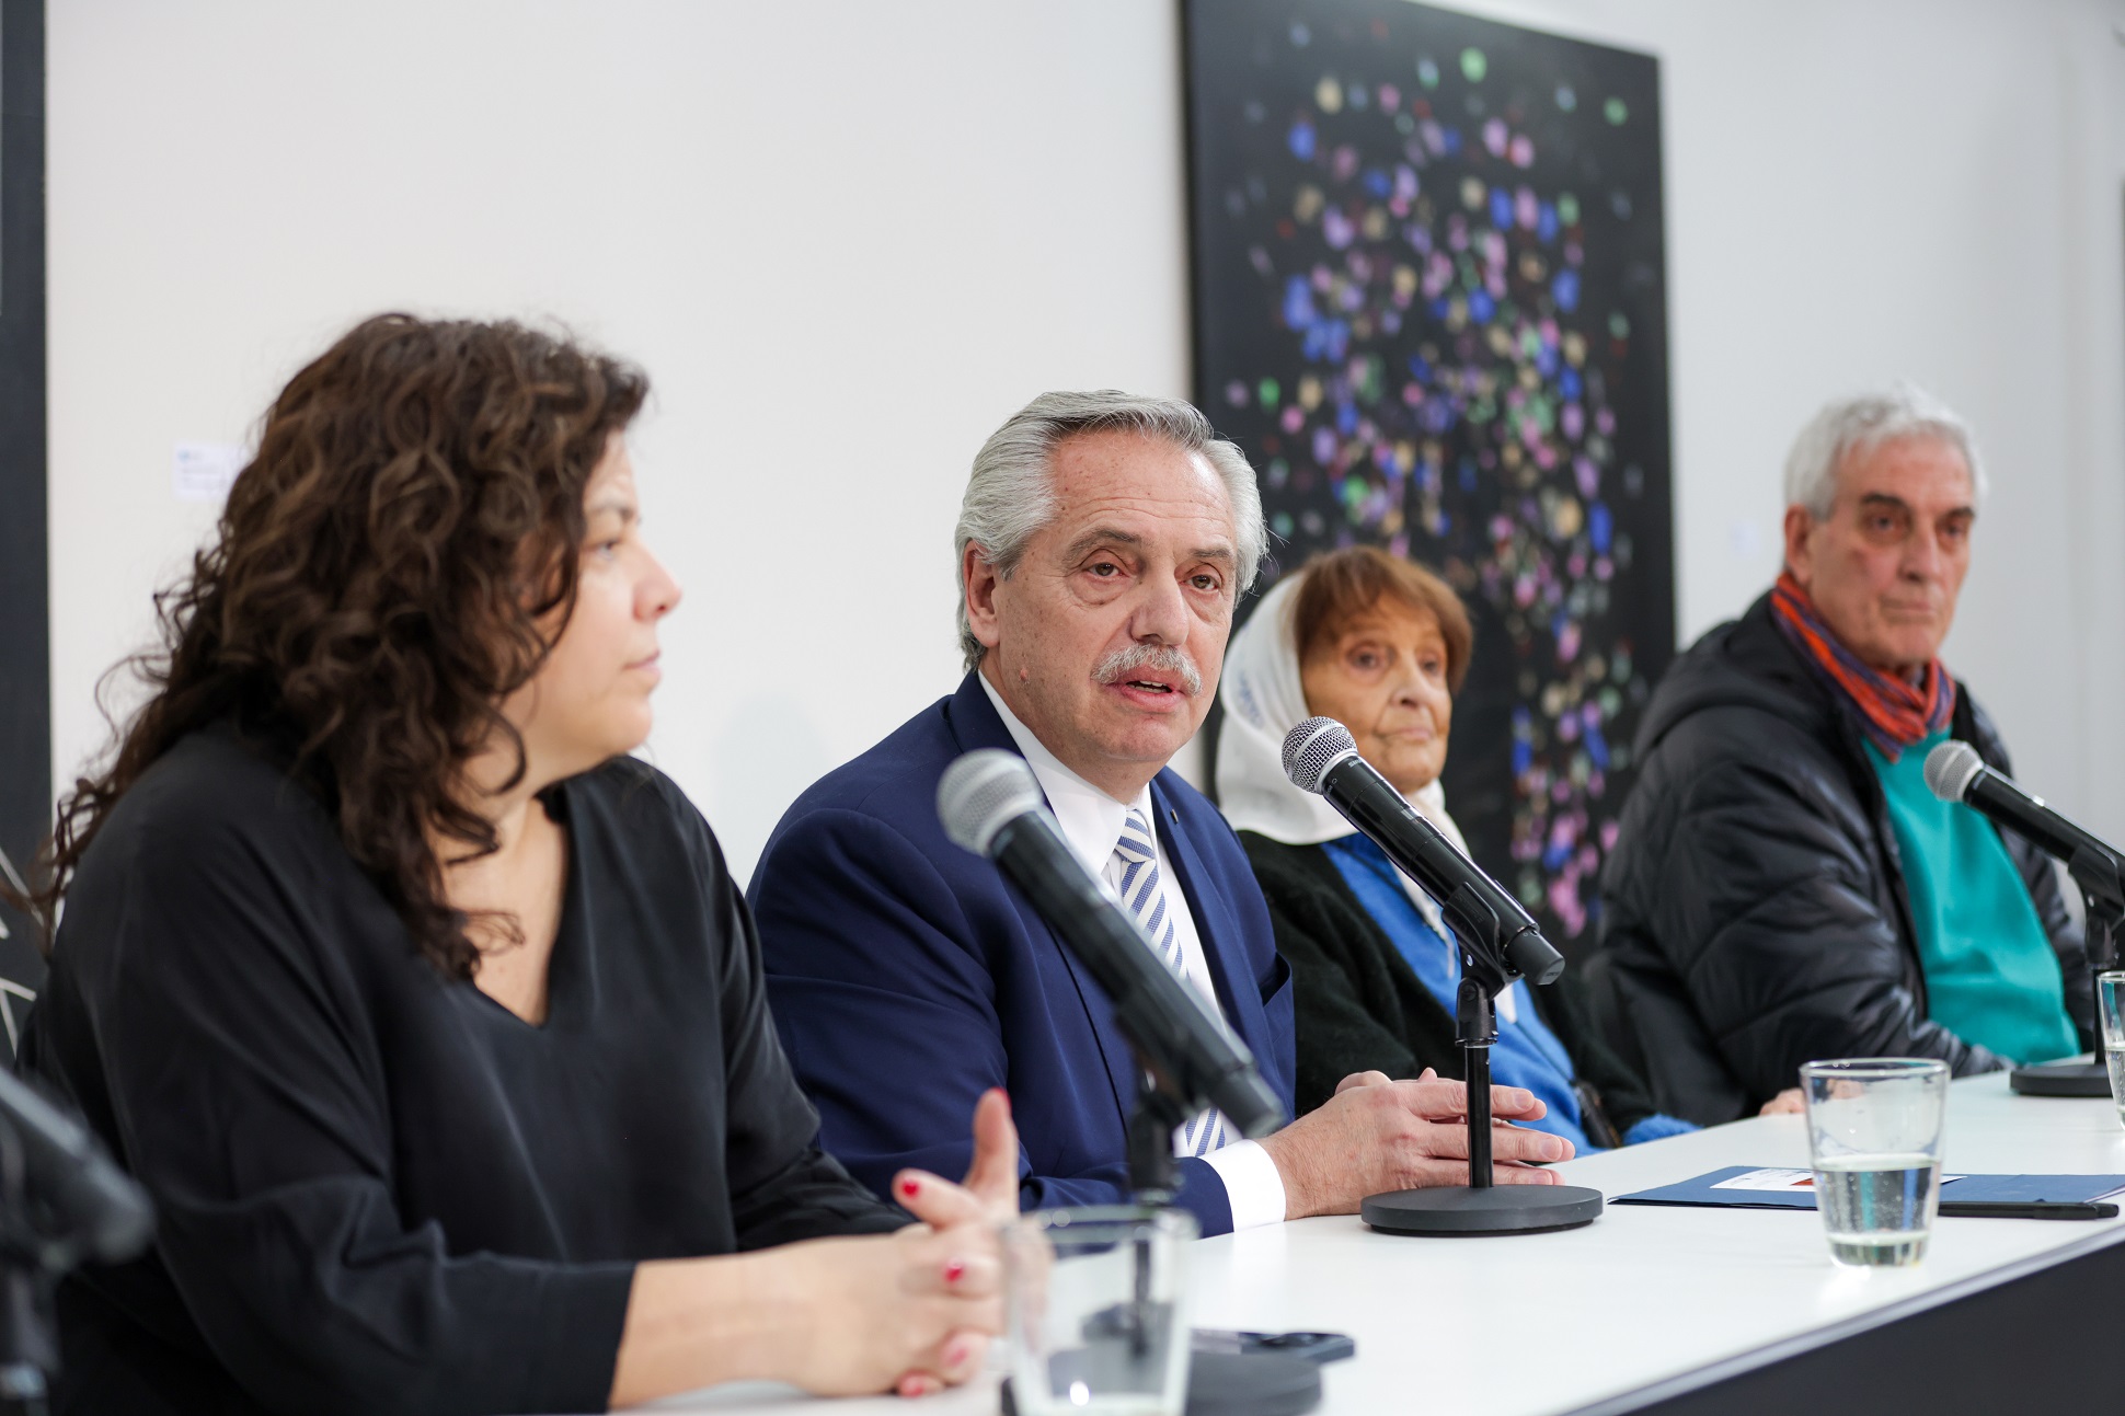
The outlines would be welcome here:
<svg viewBox="0 0 2125 1416">
<path fill-rule="evenodd" d="M 1090 432 L 1135 432 L 1169 442 L 1184 453 L 1201 453 L 1224 478 L 1232 502 L 1232 536 L 1239 542 L 1239 585 L 1235 602 L 1254 585 L 1269 551 L 1262 523 L 1262 493 L 1254 485 L 1247 455 L 1216 434 L 1194 406 L 1177 398 L 1139 398 L 1118 389 L 1090 393 L 1041 393 L 990 434 L 973 455 L 967 498 L 958 504 L 958 648 L 971 672 L 988 653 L 967 623 L 967 546 L 980 546 L 1005 580 L 1018 570 L 1026 542 L 1054 519 L 1056 498 L 1050 474 L 1054 451 L 1065 438 Z"/>
</svg>

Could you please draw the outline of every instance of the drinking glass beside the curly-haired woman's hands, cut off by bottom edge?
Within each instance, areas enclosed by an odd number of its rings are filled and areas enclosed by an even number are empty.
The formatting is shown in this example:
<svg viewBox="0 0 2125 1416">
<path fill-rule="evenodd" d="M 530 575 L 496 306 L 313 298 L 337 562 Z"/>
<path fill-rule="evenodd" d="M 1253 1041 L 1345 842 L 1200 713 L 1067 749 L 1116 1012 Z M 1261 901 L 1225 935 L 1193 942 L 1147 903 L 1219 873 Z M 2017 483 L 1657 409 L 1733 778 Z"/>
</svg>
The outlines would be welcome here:
<svg viewBox="0 0 2125 1416">
<path fill-rule="evenodd" d="M 1022 1416 L 1182 1416 L 1186 1210 L 1039 1210 L 1003 1227 L 1012 1403 Z"/>
</svg>

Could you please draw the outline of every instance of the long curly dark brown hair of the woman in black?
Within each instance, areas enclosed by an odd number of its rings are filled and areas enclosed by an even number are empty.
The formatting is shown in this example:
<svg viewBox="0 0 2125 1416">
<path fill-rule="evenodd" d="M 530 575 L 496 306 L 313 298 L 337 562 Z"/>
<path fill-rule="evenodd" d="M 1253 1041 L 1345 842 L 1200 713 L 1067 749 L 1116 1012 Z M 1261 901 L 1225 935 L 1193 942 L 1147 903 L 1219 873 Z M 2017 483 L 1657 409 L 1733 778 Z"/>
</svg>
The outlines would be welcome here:
<svg viewBox="0 0 2125 1416">
<path fill-rule="evenodd" d="M 21 901 L 45 946 L 119 797 L 185 734 L 234 721 L 327 804 L 421 955 L 472 978 L 480 946 L 431 840 L 495 850 L 465 765 L 502 742 L 523 778 L 502 699 L 574 610 L 584 485 L 646 395 L 642 370 L 567 338 L 412 315 L 355 325 L 295 374 L 215 544 L 155 597 L 159 646 L 119 665 L 151 697 L 60 804 Z"/>
</svg>

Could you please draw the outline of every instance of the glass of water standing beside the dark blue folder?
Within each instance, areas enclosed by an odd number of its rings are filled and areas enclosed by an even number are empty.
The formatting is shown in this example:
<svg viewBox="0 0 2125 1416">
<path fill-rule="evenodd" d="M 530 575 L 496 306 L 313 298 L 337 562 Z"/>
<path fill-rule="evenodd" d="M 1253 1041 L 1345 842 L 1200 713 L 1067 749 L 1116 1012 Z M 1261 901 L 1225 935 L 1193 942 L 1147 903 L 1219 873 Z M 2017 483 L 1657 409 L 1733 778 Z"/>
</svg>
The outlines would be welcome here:
<svg viewBox="0 0 2125 1416">
<path fill-rule="evenodd" d="M 1830 1257 L 1853 1267 L 1925 1259 L 1940 1203 L 1949 1065 L 1917 1057 L 1804 1063 L 1800 1091 Z"/>
</svg>

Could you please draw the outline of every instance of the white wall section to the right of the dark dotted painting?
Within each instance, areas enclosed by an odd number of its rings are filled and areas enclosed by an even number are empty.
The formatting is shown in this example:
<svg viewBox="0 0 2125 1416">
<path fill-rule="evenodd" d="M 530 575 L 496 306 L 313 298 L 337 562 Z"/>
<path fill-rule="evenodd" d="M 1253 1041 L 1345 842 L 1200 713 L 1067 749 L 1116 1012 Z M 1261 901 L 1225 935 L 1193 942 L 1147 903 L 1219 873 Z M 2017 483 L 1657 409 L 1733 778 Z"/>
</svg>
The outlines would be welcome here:
<svg viewBox="0 0 2125 1416">
<path fill-rule="evenodd" d="M 1993 481 L 1944 659 L 2125 840 L 2125 2 L 1456 9 L 1662 57 L 1683 638 L 1776 574 L 1800 423 L 1915 378 Z"/>
</svg>

